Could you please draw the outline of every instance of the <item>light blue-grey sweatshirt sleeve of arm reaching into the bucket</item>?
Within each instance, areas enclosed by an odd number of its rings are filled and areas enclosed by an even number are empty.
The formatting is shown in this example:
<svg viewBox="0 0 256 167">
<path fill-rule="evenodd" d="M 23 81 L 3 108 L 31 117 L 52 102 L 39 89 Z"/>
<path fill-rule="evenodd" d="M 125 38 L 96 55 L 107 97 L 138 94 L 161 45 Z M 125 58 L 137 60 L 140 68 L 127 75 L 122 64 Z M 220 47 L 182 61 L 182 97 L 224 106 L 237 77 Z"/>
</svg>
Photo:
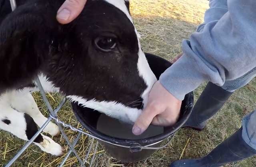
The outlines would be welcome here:
<svg viewBox="0 0 256 167">
<path fill-rule="evenodd" d="M 204 20 L 182 41 L 183 56 L 160 76 L 180 100 L 203 82 L 222 86 L 256 67 L 256 0 L 210 0 Z"/>
</svg>

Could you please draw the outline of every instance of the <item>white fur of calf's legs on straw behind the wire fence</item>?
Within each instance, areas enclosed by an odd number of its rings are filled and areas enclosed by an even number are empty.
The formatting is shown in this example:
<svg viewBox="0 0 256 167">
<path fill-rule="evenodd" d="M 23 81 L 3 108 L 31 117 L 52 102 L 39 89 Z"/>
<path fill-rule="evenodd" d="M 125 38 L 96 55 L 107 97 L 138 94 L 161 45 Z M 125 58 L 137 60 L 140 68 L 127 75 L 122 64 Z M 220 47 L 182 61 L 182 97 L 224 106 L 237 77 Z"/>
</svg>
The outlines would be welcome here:
<svg viewBox="0 0 256 167">
<path fill-rule="evenodd" d="M 46 117 L 40 113 L 36 102 L 30 93 L 20 93 L 16 90 L 6 91 L 0 97 L 0 129 L 8 131 L 13 135 L 16 135 L 20 139 L 28 141 L 26 135 L 27 122 L 24 117 L 24 113 L 28 113 L 37 123 L 41 126 L 47 120 Z M 10 121 L 9 124 L 4 123 L 3 120 Z M 51 135 L 57 135 L 59 133 L 58 126 L 54 123 L 49 123 L 44 129 L 45 132 Z M 42 134 L 41 134 L 42 135 Z M 62 147 L 54 142 L 50 137 L 44 136 L 42 143 L 35 143 L 43 151 L 52 155 L 63 155 Z"/>
</svg>

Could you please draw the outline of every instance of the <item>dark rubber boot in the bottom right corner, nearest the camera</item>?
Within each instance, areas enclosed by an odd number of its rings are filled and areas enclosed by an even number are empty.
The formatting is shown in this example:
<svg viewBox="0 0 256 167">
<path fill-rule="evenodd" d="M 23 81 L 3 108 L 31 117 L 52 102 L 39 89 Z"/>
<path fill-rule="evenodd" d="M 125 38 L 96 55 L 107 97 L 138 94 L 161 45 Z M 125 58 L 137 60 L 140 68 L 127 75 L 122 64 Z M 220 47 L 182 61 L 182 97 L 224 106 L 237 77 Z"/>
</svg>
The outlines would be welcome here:
<svg viewBox="0 0 256 167">
<path fill-rule="evenodd" d="M 178 160 L 170 167 L 220 167 L 256 155 L 256 150 L 242 139 L 242 128 L 200 159 Z"/>
</svg>

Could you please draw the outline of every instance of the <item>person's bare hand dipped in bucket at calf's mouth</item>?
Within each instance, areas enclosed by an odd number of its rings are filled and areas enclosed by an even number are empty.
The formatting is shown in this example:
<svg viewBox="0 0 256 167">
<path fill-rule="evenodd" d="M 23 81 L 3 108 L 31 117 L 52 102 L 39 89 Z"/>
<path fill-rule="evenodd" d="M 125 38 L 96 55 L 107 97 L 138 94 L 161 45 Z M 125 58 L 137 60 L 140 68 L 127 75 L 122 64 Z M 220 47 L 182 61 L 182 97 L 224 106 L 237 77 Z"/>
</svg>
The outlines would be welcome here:
<svg viewBox="0 0 256 167">
<path fill-rule="evenodd" d="M 181 103 L 160 82 L 156 82 L 149 93 L 148 104 L 132 128 L 134 135 L 141 135 L 148 126 L 170 126 L 178 121 Z"/>
</svg>

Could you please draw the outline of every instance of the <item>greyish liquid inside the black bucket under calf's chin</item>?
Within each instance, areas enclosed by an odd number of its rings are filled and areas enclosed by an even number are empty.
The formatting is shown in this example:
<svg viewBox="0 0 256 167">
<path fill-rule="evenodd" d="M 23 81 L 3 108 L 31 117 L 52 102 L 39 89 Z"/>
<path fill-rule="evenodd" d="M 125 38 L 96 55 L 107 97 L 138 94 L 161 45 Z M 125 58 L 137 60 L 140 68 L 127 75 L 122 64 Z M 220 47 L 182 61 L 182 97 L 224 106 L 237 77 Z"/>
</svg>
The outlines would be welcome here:
<svg viewBox="0 0 256 167">
<path fill-rule="evenodd" d="M 136 136 L 132 133 L 132 125 L 108 117 L 105 114 L 100 115 L 97 130 L 105 135 L 120 139 L 144 139 L 164 133 L 164 127 L 150 125 L 142 135 Z"/>
</svg>

